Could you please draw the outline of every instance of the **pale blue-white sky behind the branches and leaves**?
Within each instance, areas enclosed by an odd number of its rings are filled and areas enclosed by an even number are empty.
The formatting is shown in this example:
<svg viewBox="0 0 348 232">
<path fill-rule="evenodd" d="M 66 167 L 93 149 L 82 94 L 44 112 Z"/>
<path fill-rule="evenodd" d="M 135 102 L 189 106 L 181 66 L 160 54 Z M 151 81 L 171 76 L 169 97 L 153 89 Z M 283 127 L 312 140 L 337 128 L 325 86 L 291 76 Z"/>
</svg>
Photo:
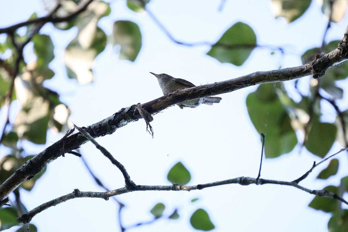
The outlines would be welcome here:
<svg viewBox="0 0 348 232">
<path fill-rule="evenodd" d="M 143 36 L 143 47 L 136 61 L 120 61 L 111 45 L 108 45 L 94 63 L 94 82 L 81 86 L 76 80 L 66 77 L 63 64 L 64 49 L 76 35 L 76 30 L 58 31 L 47 24 L 40 32 L 49 33 L 55 45 L 55 59 L 50 67 L 56 75 L 45 82 L 45 86 L 60 93 L 61 101 L 72 111 L 71 121 L 80 127 L 87 127 L 123 107 L 162 96 L 156 78 L 149 72 L 167 73 L 195 85 L 203 85 L 255 71 L 275 70 L 279 66 L 300 65 L 300 56 L 304 51 L 321 45 L 327 19 L 320 13 L 317 2 L 312 2 L 308 12 L 290 25 L 283 18 L 274 19 L 269 1 L 226 1 L 221 12 L 217 10 L 219 4 L 220 1 L 203 4 L 201 1 L 153 0 L 148 8 L 177 40 L 213 43 L 231 25 L 241 21 L 254 29 L 259 45 L 284 47 L 285 55 L 276 51 L 271 56 L 272 50 L 260 48 L 255 49 L 241 67 L 221 64 L 205 55 L 209 47 L 177 45 L 166 37 L 146 12 L 136 14 L 126 8 L 124 1 L 113 1 L 111 15 L 103 18 L 98 25 L 106 34 L 111 34 L 114 21 L 131 20 L 137 23 Z M 22 22 L 34 11 L 38 11 L 40 16 L 46 14 L 39 0 L 0 0 L 0 5 L 0 27 Z M 342 39 L 346 22 L 347 17 L 341 23 L 333 24 L 327 41 Z M 3 35 L 0 35 L 0 41 L 3 39 Z M 28 45 L 25 50 L 26 61 L 32 58 L 31 46 Z M 306 86 L 309 79 L 303 78 L 300 83 Z M 291 88 L 292 83 L 286 85 Z M 177 106 L 169 107 L 156 114 L 151 122 L 154 138 L 147 133 L 145 122 L 139 120 L 97 141 L 125 166 L 132 180 L 139 185 L 171 184 L 166 179 L 167 173 L 179 161 L 191 173 L 188 185 L 239 176 L 257 177 L 260 136 L 251 124 L 245 105 L 247 94 L 255 89 L 250 87 L 219 95 L 222 101 L 212 106 L 183 110 Z M 15 111 L 15 108 L 11 111 L 12 117 Z M 333 111 L 328 109 L 327 112 L 329 118 L 334 117 Z M 3 112 L 0 113 L 3 118 Z M 301 140 L 303 135 L 297 134 Z M 32 146 L 28 142 L 23 142 L 23 145 L 28 152 L 36 154 L 63 134 L 49 131 L 47 136 L 45 145 Z M 340 149 L 335 144 L 329 154 Z M 109 189 L 124 186 L 120 171 L 91 143 L 82 145 L 80 152 L 95 175 Z M 0 151 L 1 156 L 4 154 Z M 347 163 L 345 154 L 337 158 L 342 164 Z M 264 160 L 261 178 L 292 181 L 309 170 L 313 161 L 320 160 L 304 148 L 300 150 L 300 147 L 296 147 L 292 153 Z M 309 189 L 322 189 L 330 184 L 338 185 L 339 179 L 348 175 L 347 168 L 343 170 L 341 167 L 339 178 L 316 179 L 327 164 L 316 168 L 301 184 Z M 21 197 L 27 209 L 31 210 L 76 188 L 81 191 L 103 191 L 96 186 L 81 159 L 66 154 L 50 163 L 34 189 L 21 191 Z M 12 195 L 10 197 L 13 199 Z M 132 232 L 195 231 L 189 219 L 198 208 L 209 213 L 216 227 L 214 231 L 324 232 L 330 218 L 329 214 L 308 207 L 314 195 L 279 185 L 231 184 L 191 192 L 133 192 L 116 198 L 126 205 L 122 214 L 126 227 L 150 220 L 152 215 L 149 211 L 158 202 L 165 204 L 165 214 L 168 216 L 175 208 L 179 209 L 178 220 L 159 219 L 153 224 L 128 230 Z M 199 200 L 191 203 L 193 198 Z M 117 212 L 118 205 L 111 199 L 73 199 L 43 211 L 33 218 L 32 223 L 39 231 L 119 231 Z M 16 231 L 17 228 L 8 231 Z"/>
</svg>

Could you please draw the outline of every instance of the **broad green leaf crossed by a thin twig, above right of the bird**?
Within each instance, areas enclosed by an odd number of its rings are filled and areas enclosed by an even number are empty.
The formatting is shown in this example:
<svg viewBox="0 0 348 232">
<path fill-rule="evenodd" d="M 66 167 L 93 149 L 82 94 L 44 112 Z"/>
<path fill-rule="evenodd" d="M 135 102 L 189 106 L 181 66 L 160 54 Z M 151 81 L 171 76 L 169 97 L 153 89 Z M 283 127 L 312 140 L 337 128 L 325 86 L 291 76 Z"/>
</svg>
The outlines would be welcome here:
<svg viewBox="0 0 348 232">
<path fill-rule="evenodd" d="M 207 55 L 221 63 L 242 65 L 256 46 L 253 29 L 242 22 L 232 25 L 208 51 Z"/>
</svg>

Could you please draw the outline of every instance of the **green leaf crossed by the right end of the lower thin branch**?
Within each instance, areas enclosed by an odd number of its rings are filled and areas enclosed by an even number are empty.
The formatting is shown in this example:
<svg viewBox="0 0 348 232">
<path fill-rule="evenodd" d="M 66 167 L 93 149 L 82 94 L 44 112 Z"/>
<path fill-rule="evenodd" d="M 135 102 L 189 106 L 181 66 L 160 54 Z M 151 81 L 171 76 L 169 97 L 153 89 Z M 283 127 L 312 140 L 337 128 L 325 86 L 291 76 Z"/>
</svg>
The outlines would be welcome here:
<svg viewBox="0 0 348 232">
<path fill-rule="evenodd" d="M 323 190 L 338 193 L 338 189 L 335 186 L 326 186 Z M 316 196 L 310 203 L 309 207 L 314 209 L 320 209 L 324 212 L 332 212 L 338 209 L 338 201 L 336 199 L 327 198 L 327 197 L 318 197 Z"/>
</svg>

